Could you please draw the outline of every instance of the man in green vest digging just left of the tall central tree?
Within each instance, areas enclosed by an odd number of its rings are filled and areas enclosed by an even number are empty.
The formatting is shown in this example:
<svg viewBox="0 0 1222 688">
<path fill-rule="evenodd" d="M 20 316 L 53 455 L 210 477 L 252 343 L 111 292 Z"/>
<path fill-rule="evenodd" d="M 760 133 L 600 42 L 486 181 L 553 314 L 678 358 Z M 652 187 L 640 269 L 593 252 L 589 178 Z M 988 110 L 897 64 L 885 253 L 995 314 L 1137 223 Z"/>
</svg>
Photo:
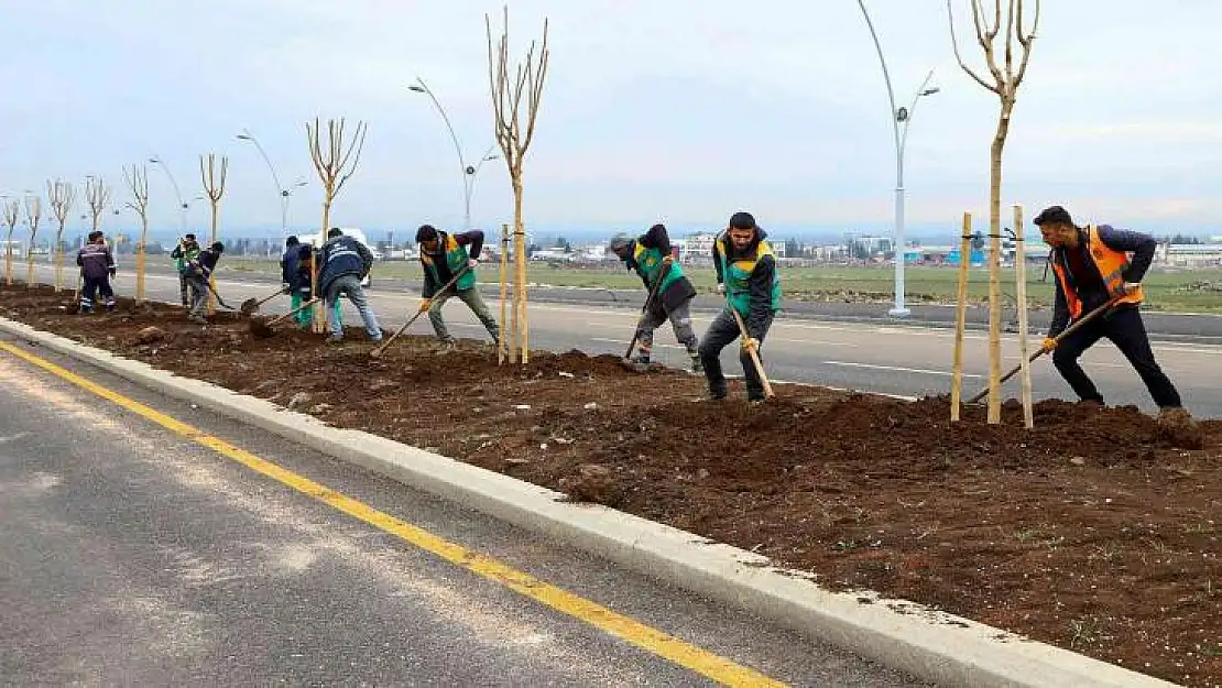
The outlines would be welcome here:
<svg viewBox="0 0 1222 688">
<path fill-rule="evenodd" d="M 424 266 L 420 310 L 429 312 L 429 321 L 433 323 L 433 330 L 442 343 L 447 348 L 452 348 L 455 345 L 455 339 L 446 330 L 446 321 L 441 318 L 441 307 L 451 296 L 457 296 L 466 303 L 475 318 L 479 318 L 479 321 L 484 324 L 484 329 L 492 337 L 492 345 L 499 343 L 501 329 L 488 309 L 488 304 L 484 303 L 479 287 L 475 286 L 475 266 L 479 265 L 479 252 L 484 248 L 484 232 L 470 230 L 451 235 L 433 225 L 420 225 L 420 229 L 415 231 L 415 242 L 420 244 L 420 265 Z M 441 287 L 463 269 L 467 271 L 458 277 L 453 287 L 441 292 Z"/>
</svg>

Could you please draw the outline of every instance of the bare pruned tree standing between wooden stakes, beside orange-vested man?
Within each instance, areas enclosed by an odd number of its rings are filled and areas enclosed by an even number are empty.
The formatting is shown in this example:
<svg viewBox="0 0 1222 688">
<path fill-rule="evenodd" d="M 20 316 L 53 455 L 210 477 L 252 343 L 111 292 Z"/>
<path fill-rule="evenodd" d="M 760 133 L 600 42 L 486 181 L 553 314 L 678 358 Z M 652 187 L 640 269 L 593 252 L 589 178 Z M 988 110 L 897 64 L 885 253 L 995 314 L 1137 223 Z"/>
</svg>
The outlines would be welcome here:
<svg viewBox="0 0 1222 688">
<path fill-rule="evenodd" d="M 1023 0 L 993 0 L 992 21 L 985 13 L 984 0 L 971 2 L 971 22 L 975 27 L 976 43 L 984 51 L 985 66 L 990 78 L 981 77 L 963 61 L 959 54 L 959 42 L 954 34 L 954 11 L 952 0 L 946 0 L 946 16 L 951 24 L 951 45 L 959 67 L 985 89 L 997 95 L 1001 106 L 997 119 L 997 131 L 993 133 L 990 149 L 989 177 L 989 236 L 991 240 L 989 257 L 989 423 L 1001 422 L 1001 160 L 1006 148 L 1006 134 L 1009 133 L 1011 114 L 1018 86 L 1026 75 L 1026 62 L 1031 56 L 1031 44 L 1040 26 L 1040 0 L 1035 0 L 1035 12 L 1031 29 L 1023 29 Z M 996 39 L 1002 29 L 1002 4 L 1006 4 L 1004 64 L 997 64 Z M 1015 46 L 1022 49 L 1015 68 Z"/>
</svg>

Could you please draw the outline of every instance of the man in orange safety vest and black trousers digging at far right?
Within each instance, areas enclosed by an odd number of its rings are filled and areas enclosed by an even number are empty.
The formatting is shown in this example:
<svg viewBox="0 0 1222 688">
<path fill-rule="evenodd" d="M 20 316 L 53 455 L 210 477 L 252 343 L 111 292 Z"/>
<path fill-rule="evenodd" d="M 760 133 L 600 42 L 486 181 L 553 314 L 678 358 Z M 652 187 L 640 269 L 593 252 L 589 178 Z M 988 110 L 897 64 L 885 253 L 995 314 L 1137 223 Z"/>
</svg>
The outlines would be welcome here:
<svg viewBox="0 0 1222 688">
<path fill-rule="evenodd" d="M 1044 242 L 1052 247 L 1048 260 L 1057 277 L 1057 293 L 1044 348 L 1052 351 L 1052 363 L 1061 376 L 1081 401 L 1102 404 L 1103 396 L 1078 359 L 1095 342 L 1107 337 L 1141 376 L 1161 409 L 1160 417 L 1187 417 L 1179 392 L 1154 358 L 1138 310 L 1144 297 L 1141 277 L 1154 260 L 1157 241 L 1149 235 L 1108 225 L 1079 227 L 1069 211 L 1059 205 L 1046 208 L 1034 221 Z M 1086 323 L 1059 343 L 1053 339 L 1113 298 L 1117 303 L 1108 313 Z"/>
</svg>

